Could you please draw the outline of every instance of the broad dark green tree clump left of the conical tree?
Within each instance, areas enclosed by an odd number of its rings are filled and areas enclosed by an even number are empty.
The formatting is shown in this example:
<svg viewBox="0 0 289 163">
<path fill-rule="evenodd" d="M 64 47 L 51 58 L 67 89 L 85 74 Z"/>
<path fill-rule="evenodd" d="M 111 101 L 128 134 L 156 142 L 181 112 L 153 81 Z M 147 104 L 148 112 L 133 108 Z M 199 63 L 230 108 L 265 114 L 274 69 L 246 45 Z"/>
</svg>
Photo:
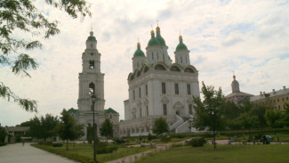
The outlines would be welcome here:
<svg viewBox="0 0 289 163">
<path fill-rule="evenodd" d="M 59 119 L 57 116 L 53 117 L 51 114 L 46 114 L 45 117 L 41 116 L 40 118 L 35 117 L 29 122 L 24 123 L 24 125 L 30 126 L 29 135 L 38 139 L 44 139 L 44 142 L 46 142 L 47 138 L 56 136 L 58 124 Z"/>
</svg>

